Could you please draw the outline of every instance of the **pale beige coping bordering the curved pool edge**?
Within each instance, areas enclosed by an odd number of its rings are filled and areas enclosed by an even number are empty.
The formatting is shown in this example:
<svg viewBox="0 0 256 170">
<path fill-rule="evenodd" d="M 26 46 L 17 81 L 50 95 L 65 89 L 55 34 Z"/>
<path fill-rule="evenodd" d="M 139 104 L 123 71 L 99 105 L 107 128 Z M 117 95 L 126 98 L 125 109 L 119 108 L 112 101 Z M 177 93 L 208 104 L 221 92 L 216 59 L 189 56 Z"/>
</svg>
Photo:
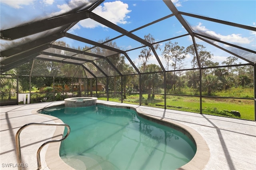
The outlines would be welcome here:
<svg viewBox="0 0 256 170">
<path fill-rule="evenodd" d="M 192 140 L 192 142 L 194 142 L 196 144 L 196 154 L 194 155 L 192 160 L 190 160 L 190 162 L 181 166 L 180 168 L 178 168 L 178 170 L 191 170 L 191 169 L 202 170 L 202 169 L 204 169 L 204 167 L 206 166 L 206 164 L 208 163 L 208 161 L 210 159 L 210 149 L 209 149 L 208 145 L 206 144 L 206 141 L 193 128 L 183 125 L 182 123 L 172 121 L 171 119 L 160 118 L 160 117 L 156 117 L 156 116 L 147 114 L 147 113 L 143 112 L 138 107 L 135 108 L 132 106 L 120 106 L 120 105 L 117 106 L 117 105 L 112 105 L 110 103 L 108 103 L 108 104 L 96 103 L 96 105 L 103 105 L 103 106 L 115 107 L 115 108 L 132 109 L 132 110 L 136 111 L 138 113 L 138 115 L 144 119 L 148 119 L 150 121 L 160 123 L 162 125 L 165 125 L 165 126 L 168 126 L 171 128 L 175 128 L 176 130 L 179 130 L 182 133 L 186 134 Z M 53 107 L 56 107 L 56 106 L 64 106 L 64 105 L 63 104 L 55 105 Z M 50 108 L 50 107 L 46 107 L 46 108 Z M 41 108 L 41 109 L 45 109 L 45 108 Z M 38 111 L 41 109 L 35 109 L 32 111 L 32 113 L 38 114 Z M 44 115 L 44 114 L 40 114 L 40 115 L 44 116 L 44 117 L 48 117 L 48 118 L 52 119 L 53 121 L 55 121 L 56 123 L 63 123 L 61 119 L 58 119 L 54 116 Z M 58 136 L 58 135 L 63 136 L 63 133 L 64 133 L 64 127 L 57 126 L 53 136 Z M 52 138 L 52 139 L 57 139 L 57 138 Z M 45 161 L 46 161 L 48 168 L 50 168 L 51 170 L 59 170 L 59 169 L 74 170 L 74 168 L 72 168 L 71 166 L 66 164 L 60 158 L 60 155 L 59 155 L 60 144 L 61 144 L 61 142 L 54 142 L 54 143 L 49 144 L 47 151 L 46 151 L 46 156 L 45 156 Z"/>
</svg>

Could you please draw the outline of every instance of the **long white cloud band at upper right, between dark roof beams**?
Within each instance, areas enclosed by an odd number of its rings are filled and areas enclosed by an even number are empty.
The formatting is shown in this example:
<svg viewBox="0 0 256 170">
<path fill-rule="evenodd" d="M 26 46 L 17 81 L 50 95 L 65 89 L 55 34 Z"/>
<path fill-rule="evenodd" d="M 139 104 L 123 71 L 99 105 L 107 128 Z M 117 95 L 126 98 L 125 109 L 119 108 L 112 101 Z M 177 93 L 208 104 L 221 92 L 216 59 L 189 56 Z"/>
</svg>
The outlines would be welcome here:
<svg viewBox="0 0 256 170">
<path fill-rule="evenodd" d="M 250 40 L 249 38 L 242 37 L 241 34 L 231 34 L 226 36 L 217 34 L 214 31 L 208 30 L 205 26 L 202 26 L 202 23 L 199 23 L 197 26 L 192 26 L 192 30 L 224 42 L 245 43 L 245 44 L 249 44 L 252 42 L 252 40 Z"/>
</svg>

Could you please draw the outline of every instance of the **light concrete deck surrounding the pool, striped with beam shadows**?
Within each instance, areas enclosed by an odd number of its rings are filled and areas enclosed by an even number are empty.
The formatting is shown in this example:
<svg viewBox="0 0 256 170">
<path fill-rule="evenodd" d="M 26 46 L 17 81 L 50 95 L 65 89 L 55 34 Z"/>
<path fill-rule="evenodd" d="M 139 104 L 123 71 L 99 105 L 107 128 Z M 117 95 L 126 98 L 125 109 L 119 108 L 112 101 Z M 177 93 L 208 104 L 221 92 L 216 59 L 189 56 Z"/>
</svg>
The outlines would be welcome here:
<svg viewBox="0 0 256 170">
<path fill-rule="evenodd" d="M 169 119 L 184 124 L 196 130 L 206 141 L 210 149 L 210 159 L 205 170 L 253 170 L 256 169 L 256 122 L 217 117 L 212 115 L 200 115 L 174 110 L 164 110 L 154 107 L 130 105 L 109 101 L 100 101 L 108 105 L 128 106 L 139 108 L 148 115 Z M 20 127 L 32 122 L 54 123 L 41 114 L 33 114 L 35 109 L 64 104 L 64 101 L 36 103 L 29 105 L 4 106 L 0 109 L 0 166 L 1 170 L 18 169 L 16 166 L 15 134 Z M 61 131 L 61 130 L 60 130 Z M 63 132 L 63 130 L 62 130 Z M 72 129 L 71 129 L 72 133 Z M 55 138 L 62 138 L 60 132 L 56 133 L 56 127 L 30 126 L 20 134 L 23 169 L 37 169 L 36 151 L 44 142 Z M 58 142 L 60 143 L 60 142 Z M 52 150 L 46 145 L 41 151 L 42 169 L 48 170 L 45 156 L 46 150 Z M 48 152 L 48 151 L 47 151 Z M 54 163 L 56 158 L 52 158 Z M 49 162 L 49 161 L 47 161 Z M 61 165 L 56 165 L 61 168 Z M 53 169 L 53 168 L 52 168 Z M 55 169 L 55 168 L 54 168 Z M 56 168 L 58 169 L 58 168 Z"/>
</svg>

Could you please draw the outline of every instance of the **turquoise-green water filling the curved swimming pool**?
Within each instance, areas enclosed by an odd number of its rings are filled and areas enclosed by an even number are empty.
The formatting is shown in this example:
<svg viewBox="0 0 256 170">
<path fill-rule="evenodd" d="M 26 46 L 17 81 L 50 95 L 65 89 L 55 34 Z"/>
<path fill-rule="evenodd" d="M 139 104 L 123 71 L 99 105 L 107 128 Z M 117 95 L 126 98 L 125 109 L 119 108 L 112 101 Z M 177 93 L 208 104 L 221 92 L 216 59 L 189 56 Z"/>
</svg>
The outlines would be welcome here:
<svg viewBox="0 0 256 170">
<path fill-rule="evenodd" d="M 42 111 L 70 125 L 60 156 L 75 169 L 177 169 L 196 146 L 180 131 L 139 117 L 135 111 L 105 106 Z"/>
</svg>

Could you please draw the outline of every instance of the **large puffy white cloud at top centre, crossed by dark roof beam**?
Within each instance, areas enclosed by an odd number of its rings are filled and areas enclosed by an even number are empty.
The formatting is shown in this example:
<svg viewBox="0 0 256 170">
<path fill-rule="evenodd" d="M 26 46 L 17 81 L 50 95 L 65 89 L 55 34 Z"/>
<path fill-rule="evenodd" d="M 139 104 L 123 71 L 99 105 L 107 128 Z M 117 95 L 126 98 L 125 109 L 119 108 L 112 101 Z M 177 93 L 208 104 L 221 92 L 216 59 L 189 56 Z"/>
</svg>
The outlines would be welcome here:
<svg viewBox="0 0 256 170">
<path fill-rule="evenodd" d="M 102 18 L 105 18 L 106 20 L 109 20 L 114 24 L 128 23 L 126 19 L 130 18 L 130 16 L 127 16 L 127 14 L 131 12 L 131 10 L 128 10 L 128 4 L 124 4 L 121 1 L 115 1 L 105 2 L 103 5 L 104 6 L 98 6 L 92 12 L 94 12 L 98 16 L 101 16 Z M 83 28 L 95 28 L 98 26 L 106 27 L 90 18 L 81 20 L 76 25 L 78 26 L 73 27 L 72 30 L 78 29 L 80 28 L 80 26 Z"/>
</svg>

